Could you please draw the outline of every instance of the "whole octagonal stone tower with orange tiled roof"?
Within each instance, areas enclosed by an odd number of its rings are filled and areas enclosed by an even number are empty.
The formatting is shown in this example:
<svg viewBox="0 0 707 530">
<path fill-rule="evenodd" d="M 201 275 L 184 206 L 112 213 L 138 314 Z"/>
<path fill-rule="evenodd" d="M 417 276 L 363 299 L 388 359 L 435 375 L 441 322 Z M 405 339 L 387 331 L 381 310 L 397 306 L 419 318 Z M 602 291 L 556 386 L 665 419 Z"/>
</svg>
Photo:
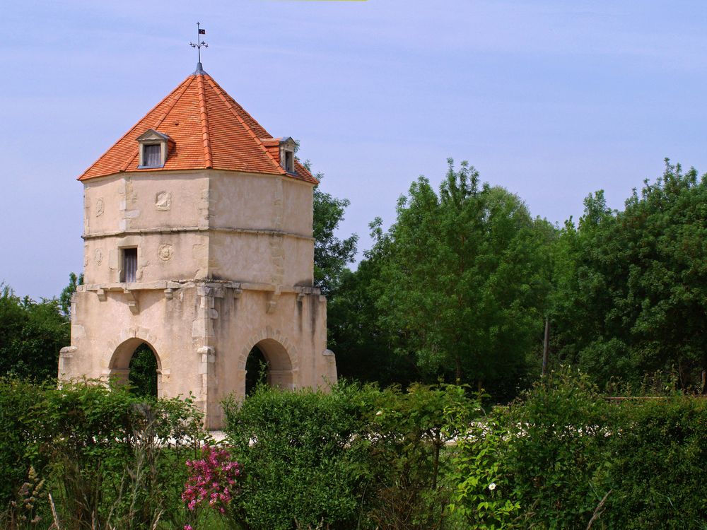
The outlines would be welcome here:
<svg viewBox="0 0 707 530">
<path fill-rule="evenodd" d="M 252 348 L 270 384 L 337 379 L 312 285 L 317 180 L 197 70 L 78 177 L 84 281 L 59 378 L 119 377 L 146 343 L 158 395 L 192 391 L 209 428 L 245 396 Z"/>
</svg>

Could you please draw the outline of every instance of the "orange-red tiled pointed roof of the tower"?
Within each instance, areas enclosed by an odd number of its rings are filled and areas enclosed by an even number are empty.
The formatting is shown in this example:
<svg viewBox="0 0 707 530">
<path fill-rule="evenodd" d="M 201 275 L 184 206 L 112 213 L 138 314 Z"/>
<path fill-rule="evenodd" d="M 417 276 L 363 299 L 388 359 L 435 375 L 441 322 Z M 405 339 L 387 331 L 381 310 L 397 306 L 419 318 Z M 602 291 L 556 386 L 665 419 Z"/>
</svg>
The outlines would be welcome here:
<svg viewBox="0 0 707 530">
<path fill-rule="evenodd" d="M 164 167 L 138 169 L 137 137 L 148 129 L 175 142 Z M 295 173 L 280 165 L 279 139 L 273 139 L 208 73 L 187 77 L 93 163 L 79 180 L 124 171 L 216 169 L 286 175 L 317 184 L 300 163 Z"/>
</svg>

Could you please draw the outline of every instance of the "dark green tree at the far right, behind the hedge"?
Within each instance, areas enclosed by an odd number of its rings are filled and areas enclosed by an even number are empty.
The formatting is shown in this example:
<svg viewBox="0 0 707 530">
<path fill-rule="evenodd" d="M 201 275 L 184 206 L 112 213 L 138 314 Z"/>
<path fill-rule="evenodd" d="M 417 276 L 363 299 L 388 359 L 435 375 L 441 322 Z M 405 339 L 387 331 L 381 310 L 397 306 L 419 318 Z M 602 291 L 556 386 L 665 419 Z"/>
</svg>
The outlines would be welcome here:
<svg viewBox="0 0 707 530">
<path fill-rule="evenodd" d="M 556 348 L 605 384 L 674 367 L 682 387 L 707 370 L 707 177 L 666 160 L 624 211 L 602 192 L 557 247 Z"/>
</svg>

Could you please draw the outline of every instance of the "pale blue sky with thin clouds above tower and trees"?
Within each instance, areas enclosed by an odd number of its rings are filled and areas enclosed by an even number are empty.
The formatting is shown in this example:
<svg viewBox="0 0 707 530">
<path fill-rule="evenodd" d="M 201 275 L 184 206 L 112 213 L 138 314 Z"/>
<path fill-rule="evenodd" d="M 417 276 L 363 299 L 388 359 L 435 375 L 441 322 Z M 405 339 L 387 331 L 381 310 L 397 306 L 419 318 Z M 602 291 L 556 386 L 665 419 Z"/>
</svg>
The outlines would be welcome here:
<svg viewBox="0 0 707 530">
<path fill-rule="evenodd" d="M 0 280 L 57 295 L 83 264 L 76 177 L 202 62 L 351 200 L 395 218 L 446 159 L 562 223 L 620 208 L 663 158 L 707 170 L 702 1 L 6 2 Z"/>
</svg>

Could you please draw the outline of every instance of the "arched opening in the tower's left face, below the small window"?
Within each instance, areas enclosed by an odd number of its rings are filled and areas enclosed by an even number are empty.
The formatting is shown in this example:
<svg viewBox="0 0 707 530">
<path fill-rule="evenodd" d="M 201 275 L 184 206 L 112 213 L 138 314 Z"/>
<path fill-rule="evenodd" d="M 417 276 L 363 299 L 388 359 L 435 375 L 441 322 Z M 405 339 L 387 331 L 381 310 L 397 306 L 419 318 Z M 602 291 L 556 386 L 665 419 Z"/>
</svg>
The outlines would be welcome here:
<svg viewBox="0 0 707 530">
<path fill-rule="evenodd" d="M 141 338 L 129 338 L 115 348 L 108 373 L 112 379 L 129 383 L 139 396 L 160 396 L 160 358 L 155 348 Z"/>
</svg>

